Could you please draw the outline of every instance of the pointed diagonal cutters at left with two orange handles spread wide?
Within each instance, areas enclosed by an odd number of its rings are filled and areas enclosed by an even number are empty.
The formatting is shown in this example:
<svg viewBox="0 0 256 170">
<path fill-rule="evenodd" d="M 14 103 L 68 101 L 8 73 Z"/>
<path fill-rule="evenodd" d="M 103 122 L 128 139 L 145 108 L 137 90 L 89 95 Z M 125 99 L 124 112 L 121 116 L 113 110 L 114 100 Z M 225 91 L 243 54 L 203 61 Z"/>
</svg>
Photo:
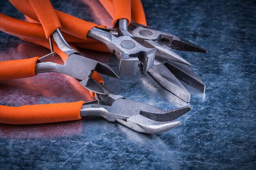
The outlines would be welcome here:
<svg viewBox="0 0 256 170">
<path fill-rule="evenodd" d="M 23 65 L 22 62 L 25 61 L 9 61 L 5 62 L 4 66 L 7 69 L 11 68 L 9 67 L 9 65 L 11 66 L 12 63 L 15 62 L 16 64 L 14 66 L 18 66 L 19 68 L 16 69 L 17 72 L 14 75 L 18 76 L 16 78 L 34 76 L 36 73 L 60 72 L 76 78 L 81 85 L 83 85 L 85 88 L 92 92 L 96 92 L 99 94 L 110 94 L 110 92 L 108 92 L 108 90 L 104 88 L 104 86 L 102 86 L 91 77 L 94 71 L 97 71 L 98 73 L 101 73 L 103 75 L 117 78 L 118 76 L 112 70 L 112 68 L 110 68 L 110 66 L 108 66 L 107 64 L 84 57 L 81 53 L 76 51 L 66 42 L 60 31 L 61 24 L 52 7 L 52 4 L 49 1 L 45 1 L 43 5 L 41 5 L 40 1 L 31 1 L 31 4 L 33 5 L 33 9 L 37 17 L 40 18 L 40 23 L 43 26 L 46 38 L 51 40 L 52 36 L 58 48 L 61 49 L 61 51 L 63 51 L 69 57 L 65 61 L 64 65 L 56 64 L 53 62 L 40 62 L 40 60 L 42 60 L 43 58 L 39 59 L 34 57 L 26 60 L 26 63 L 31 64 L 31 67 Z M 31 69 L 27 70 L 27 68 Z M 18 73 L 18 71 L 20 71 L 20 73 Z M 8 78 L 8 74 L 5 75 Z"/>
</svg>

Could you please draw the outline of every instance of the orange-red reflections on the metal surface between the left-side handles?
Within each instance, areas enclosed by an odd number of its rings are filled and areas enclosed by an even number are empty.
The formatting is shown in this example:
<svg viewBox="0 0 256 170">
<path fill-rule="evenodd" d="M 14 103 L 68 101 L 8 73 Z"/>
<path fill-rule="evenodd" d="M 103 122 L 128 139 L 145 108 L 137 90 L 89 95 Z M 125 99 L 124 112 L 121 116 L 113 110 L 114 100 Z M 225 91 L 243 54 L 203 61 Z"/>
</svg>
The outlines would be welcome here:
<svg viewBox="0 0 256 170">
<path fill-rule="evenodd" d="M 34 56 L 43 56 L 48 49 L 36 44 L 24 42 L 0 53 L 0 60 L 17 60 Z M 55 55 L 45 61 L 63 64 Z M 60 73 L 44 73 L 35 77 L 0 82 L 0 102 L 2 105 L 20 106 L 27 104 L 47 104 L 90 101 L 90 93 L 76 79 Z"/>
</svg>

